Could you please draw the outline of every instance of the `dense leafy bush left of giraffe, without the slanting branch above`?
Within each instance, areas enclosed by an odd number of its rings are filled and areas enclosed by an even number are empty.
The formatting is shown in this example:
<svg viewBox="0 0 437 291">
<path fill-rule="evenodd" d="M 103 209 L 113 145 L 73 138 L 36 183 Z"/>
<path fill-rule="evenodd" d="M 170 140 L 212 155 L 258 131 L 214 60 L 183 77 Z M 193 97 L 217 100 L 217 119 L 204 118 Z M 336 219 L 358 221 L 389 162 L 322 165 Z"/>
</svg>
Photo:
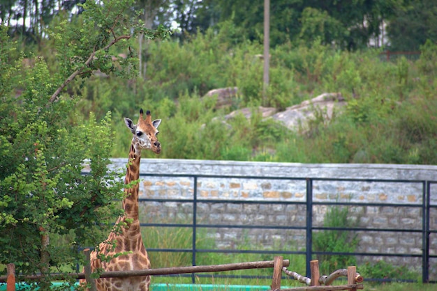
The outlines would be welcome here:
<svg viewBox="0 0 437 291">
<path fill-rule="evenodd" d="M 23 72 L 22 95 L 3 95 L 0 108 L 0 262 L 14 262 L 23 274 L 46 273 L 49 262 L 73 265 L 77 246 L 103 239 L 97 230 L 110 228 L 94 221 L 108 223 L 121 214 L 112 200 L 122 198 L 124 184 L 115 182 L 122 181 L 119 174 L 107 168 L 110 115 L 101 123 L 91 116 L 72 126 L 66 118 L 74 100 L 62 98 L 47 106 L 53 89 L 45 63 L 37 61 Z M 91 167 L 87 176 L 81 175 L 84 158 Z M 71 230 L 74 242 L 46 245 L 44 237 Z"/>
</svg>

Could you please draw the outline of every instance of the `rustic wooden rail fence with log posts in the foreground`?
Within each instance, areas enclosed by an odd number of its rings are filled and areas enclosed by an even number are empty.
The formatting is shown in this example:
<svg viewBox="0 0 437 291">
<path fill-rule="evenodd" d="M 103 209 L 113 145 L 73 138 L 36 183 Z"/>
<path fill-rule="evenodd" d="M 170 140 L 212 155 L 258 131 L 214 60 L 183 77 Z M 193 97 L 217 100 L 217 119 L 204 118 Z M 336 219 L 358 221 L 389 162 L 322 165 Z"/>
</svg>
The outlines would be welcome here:
<svg viewBox="0 0 437 291">
<path fill-rule="evenodd" d="M 87 250 L 89 251 L 89 250 Z M 86 251 L 86 253 L 87 253 Z M 270 291 L 334 291 L 334 290 L 359 290 L 364 289 L 362 284 L 363 278 L 356 272 L 356 267 L 348 267 L 348 269 L 339 269 L 330 274 L 329 276 L 320 276 L 318 260 L 311 261 L 311 278 L 301 276 L 296 272 L 290 272 L 286 267 L 290 265 L 289 260 L 283 260 L 283 257 L 276 256 L 271 261 L 258 261 L 258 262 L 239 262 L 234 264 L 225 265 L 205 265 L 205 266 L 192 266 L 192 267 L 170 267 L 160 269 L 141 269 L 135 271 L 117 271 L 117 272 L 102 272 L 100 278 L 119 278 L 126 276 L 153 276 L 153 275 L 170 275 L 170 274 L 187 274 L 187 273 L 205 273 L 205 272 L 225 272 L 241 269 L 260 269 L 260 268 L 273 268 L 272 285 Z M 1 276 L 0 282 L 5 282 L 7 291 L 15 291 L 15 266 L 13 264 L 7 265 L 8 275 Z M 86 273 L 71 273 L 68 276 L 73 278 L 82 279 L 87 278 L 90 283 L 91 291 L 96 290 L 94 279 L 91 278 L 91 268 L 87 266 Z M 304 287 L 297 287 L 292 289 L 281 289 L 282 275 L 286 274 L 300 283 L 306 284 Z M 346 276 L 348 282 L 346 285 L 334 285 L 332 282 L 340 276 Z M 24 276 L 24 280 L 38 280 L 40 276 Z M 52 276 L 53 279 L 57 278 L 57 275 Z M 65 275 L 59 276 L 59 279 L 65 278 Z M 21 278 L 20 278 L 21 279 Z"/>
</svg>

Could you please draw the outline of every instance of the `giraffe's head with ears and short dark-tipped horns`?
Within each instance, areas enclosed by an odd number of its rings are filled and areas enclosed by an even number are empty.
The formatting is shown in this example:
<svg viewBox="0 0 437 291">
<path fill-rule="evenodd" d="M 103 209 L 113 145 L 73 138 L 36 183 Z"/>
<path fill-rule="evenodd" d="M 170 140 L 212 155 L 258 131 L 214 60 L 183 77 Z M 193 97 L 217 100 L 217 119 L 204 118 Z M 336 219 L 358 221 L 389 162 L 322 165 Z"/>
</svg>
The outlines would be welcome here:
<svg viewBox="0 0 437 291">
<path fill-rule="evenodd" d="M 140 152 L 143 148 L 151 150 L 159 154 L 161 152 L 161 143 L 156 136 L 158 135 L 158 126 L 161 124 L 161 119 L 151 120 L 150 111 L 147 110 L 146 118 L 143 118 L 144 111 L 140 110 L 140 118 L 135 125 L 129 118 L 124 118 L 124 123 L 128 129 L 131 129 L 133 134 L 132 145 L 135 147 L 135 152 Z"/>
</svg>

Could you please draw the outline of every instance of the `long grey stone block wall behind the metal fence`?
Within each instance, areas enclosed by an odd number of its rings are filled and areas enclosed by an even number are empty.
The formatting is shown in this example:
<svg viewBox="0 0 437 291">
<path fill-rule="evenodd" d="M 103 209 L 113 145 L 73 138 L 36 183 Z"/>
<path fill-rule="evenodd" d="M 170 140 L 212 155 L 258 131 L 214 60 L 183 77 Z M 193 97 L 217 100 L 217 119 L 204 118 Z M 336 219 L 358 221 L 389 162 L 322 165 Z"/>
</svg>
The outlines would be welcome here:
<svg viewBox="0 0 437 291">
<path fill-rule="evenodd" d="M 114 159 L 124 168 L 126 159 Z M 271 226 L 272 228 L 204 228 L 218 248 L 250 242 L 256 249 L 302 250 L 306 243 L 306 180 L 313 178 L 313 226 L 323 226 L 328 207 L 317 203 L 356 203 L 348 206 L 350 219 L 360 228 L 422 230 L 423 183 L 436 181 L 437 166 L 385 164 L 290 164 L 175 159 L 142 159 L 140 198 L 171 201 L 141 203 L 142 222 L 191 223 L 193 175 L 198 178 L 197 223 L 205 225 Z M 147 175 L 163 176 L 147 176 Z M 179 175 L 169 177 L 165 175 Z M 187 176 L 182 176 L 187 175 Z M 253 178 L 238 178 L 251 176 Z M 329 181 L 324 179 L 402 180 Z M 320 180 L 317 180 L 320 179 Z M 233 203 L 230 203 L 229 200 Z M 214 203 L 212 203 L 214 201 Z M 267 204 L 257 204 L 256 201 Z M 376 205 L 381 204 L 381 205 Z M 437 205 L 437 184 L 431 184 L 431 205 Z M 437 208 L 432 208 L 431 230 L 437 230 Z M 286 229 L 291 227 L 292 229 Z M 297 229 L 293 229 L 297 228 Z M 317 232 L 317 231 L 316 231 Z M 359 231 L 358 252 L 365 260 L 387 260 L 420 269 L 421 258 L 385 257 L 378 253 L 422 254 L 422 233 Z M 431 233 L 430 254 L 437 255 L 437 235 Z M 437 260 L 431 260 L 431 269 Z"/>
</svg>

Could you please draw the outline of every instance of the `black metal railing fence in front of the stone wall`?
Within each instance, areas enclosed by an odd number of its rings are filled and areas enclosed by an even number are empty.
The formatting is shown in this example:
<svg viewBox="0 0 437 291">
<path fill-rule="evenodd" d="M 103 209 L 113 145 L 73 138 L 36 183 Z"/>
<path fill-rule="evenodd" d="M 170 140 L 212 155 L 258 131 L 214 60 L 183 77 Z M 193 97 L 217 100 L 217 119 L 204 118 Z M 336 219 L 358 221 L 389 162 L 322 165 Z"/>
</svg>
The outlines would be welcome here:
<svg viewBox="0 0 437 291">
<path fill-rule="evenodd" d="M 184 227 L 191 228 L 193 232 L 193 241 L 191 249 L 150 249 L 149 252 L 189 252 L 192 254 L 192 264 L 196 265 L 196 254 L 198 253 L 282 253 L 290 255 L 305 255 L 306 256 L 306 276 L 310 274 L 310 261 L 314 255 L 356 255 L 356 256 L 378 256 L 378 257 L 403 257 L 403 258 L 420 258 L 422 260 L 422 282 L 437 283 L 429 279 L 429 264 L 430 258 L 437 258 L 437 255 L 431 254 L 431 245 L 429 237 L 432 233 L 437 233 L 437 229 L 431 229 L 430 212 L 437 210 L 437 205 L 431 204 L 431 185 L 437 184 L 437 181 L 427 180 L 377 180 L 377 179 L 330 179 L 330 178 L 284 178 L 284 177 L 265 177 L 265 176 L 233 176 L 233 175 L 175 175 L 175 174 L 141 174 L 140 178 L 145 177 L 173 177 L 173 178 L 192 178 L 193 180 L 193 198 L 191 199 L 156 199 L 156 198 L 140 198 L 140 202 L 157 202 L 157 203 L 193 203 L 193 220 L 191 223 L 141 223 L 141 226 L 156 226 L 156 227 Z M 217 179 L 255 179 L 255 180 L 301 180 L 306 182 L 306 201 L 269 201 L 269 200 L 236 200 L 236 199 L 217 199 L 202 198 L 198 195 L 198 180 L 202 178 L 217 178 Z M 344 181 L 344 182 L 372 182 L 372 183 L 420 183 L 422 185 L 422 202 L 410 204 L 398 203 L 348 203 L 348 202 L 318 202 L 313 201 L 313 182 L 316 181 Z M 435 191 L 434 191 L 435 192 Z M 234 224 L 202 224 L 197 218 L 198 203 L 244 203 L 244 204 L 284 204 L 284 205 L 305 205 L 306 207 L 306 225 L 305 226 L 265 226 L 265 225 L 242 225 L 239 221 Z M 420 208 L 422 212 L 422 223 L 413 229 L 405 228 L 332 228 L 313 225 L 313 207 L 315 205 L 342 205 L 342 206 L 383 206 L 383 207 L 409 207 Z M 200 249 L 196 244 L 196 235 L 199 228 L 249 228 L 249 229 L 283 229 L 283 230 L 303 230 L 306 233 L 306 247 L 304 251 L 260 251 L 260 250 L 235 250 L 235 249 Z M 315 230 L 343 230 L 353 232 L 392 232 L 392 233 L 420 233 L 422 236 L 422 253 L 342 253 L 342 252 L 323 252 L 313 251 L 313 233 Z M 434 250 L 435 251 L 435 250 Z M 204 275 L 207 276 L 207 275 Z M 232 276 L 231 276 L 232 277 Z M 240 277 L 240 276 L 239 276 Z M 193 283 L 195 275 L 192 275 Z M 366 280 L 372 278 L 366 278 Z M 390 281 L 390 280 L 387 280 Z"/>
</svg>

